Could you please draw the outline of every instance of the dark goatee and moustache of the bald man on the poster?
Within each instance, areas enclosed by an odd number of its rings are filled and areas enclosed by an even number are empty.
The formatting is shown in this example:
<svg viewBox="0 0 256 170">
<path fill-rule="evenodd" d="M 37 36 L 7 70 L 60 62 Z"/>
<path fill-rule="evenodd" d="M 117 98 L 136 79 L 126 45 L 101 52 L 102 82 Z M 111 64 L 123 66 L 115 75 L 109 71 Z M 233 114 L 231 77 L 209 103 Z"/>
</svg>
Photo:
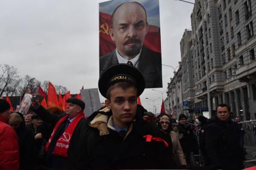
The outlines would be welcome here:
<svg viewBox="0 0 256 170">
<path fill-rule="evenodd" d="M 129 45 L 131 43 L 134 43 L 134 44 Z M 125 55 L 127 56 L 134 57 L 140 53 L 141 49 L 142 49 L 142 42 L 140 40 L 131 38 L 125 42 L 124 51 L 125 51 Z"/>
</svg>

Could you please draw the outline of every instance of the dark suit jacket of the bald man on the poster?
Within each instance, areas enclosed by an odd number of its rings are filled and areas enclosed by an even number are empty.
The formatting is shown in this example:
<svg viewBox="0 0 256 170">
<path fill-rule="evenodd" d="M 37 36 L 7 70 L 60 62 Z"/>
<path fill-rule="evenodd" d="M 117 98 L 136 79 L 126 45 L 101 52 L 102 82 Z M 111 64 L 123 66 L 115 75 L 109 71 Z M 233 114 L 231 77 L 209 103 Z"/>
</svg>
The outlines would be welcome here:
<svg viewBox="0 0 256 170">
<path fill-rule="evenodd" d="M 116 49 L 99 57 L 99 74 L 114 64 L 118 64 Z M 138 69 L 144 76 L 145 88 L 163 87 L 161 53 L 154 52 L 143 46 L 142 52 L 140 53 Z"/>
</svg>

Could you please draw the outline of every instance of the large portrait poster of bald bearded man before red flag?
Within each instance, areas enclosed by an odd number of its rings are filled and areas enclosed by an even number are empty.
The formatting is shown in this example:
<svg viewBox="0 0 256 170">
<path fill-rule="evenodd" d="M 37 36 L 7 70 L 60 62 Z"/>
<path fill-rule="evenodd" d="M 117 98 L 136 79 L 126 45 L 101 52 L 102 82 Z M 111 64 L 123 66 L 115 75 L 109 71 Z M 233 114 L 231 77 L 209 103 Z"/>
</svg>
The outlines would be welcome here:
<svg viewBox="0 0 256 170">
<path fill-rule="evenodd" d="M 163 87 L 158 0 L 99 3 L 99 74 L 120 63 L 140 70 L 146 88 Z"/>
</svg>

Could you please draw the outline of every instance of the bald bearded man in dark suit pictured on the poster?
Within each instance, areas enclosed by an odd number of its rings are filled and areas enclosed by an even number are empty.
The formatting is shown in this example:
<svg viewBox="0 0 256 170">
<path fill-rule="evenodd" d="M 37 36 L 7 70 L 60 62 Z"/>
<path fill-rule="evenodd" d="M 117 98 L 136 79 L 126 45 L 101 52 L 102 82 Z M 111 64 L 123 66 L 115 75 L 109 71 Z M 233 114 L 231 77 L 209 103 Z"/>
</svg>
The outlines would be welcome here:
<svg viewBox="0 0 256 170">
<path fill-rule="evenodd" d="M 109 29 L 116 49 L 99 57 L 99 73 L 114 64 L 130 63 L 142 72 L 146 88 L 163 87 L 161 53 L 143 46 L 147 32 L 146 10 L 139 2 L 119 5 L 111 15 Z"/>
</svg>

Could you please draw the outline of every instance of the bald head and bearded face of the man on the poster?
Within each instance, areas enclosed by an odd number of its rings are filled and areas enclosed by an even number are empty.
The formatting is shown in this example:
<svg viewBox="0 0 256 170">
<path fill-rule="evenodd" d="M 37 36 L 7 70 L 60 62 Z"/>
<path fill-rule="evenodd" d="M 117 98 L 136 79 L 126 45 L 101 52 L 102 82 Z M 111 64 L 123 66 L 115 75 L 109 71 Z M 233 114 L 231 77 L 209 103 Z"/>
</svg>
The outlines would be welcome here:
<svg viewBox="0 0 256 170">
<path fill-rule="evenodd" d="M 117 8 L 110 37 L 116 42 L 120 55 L 128 59 L 138 55 L 147 31 L 146 13 L 140 5 L 127 2 Z"/>
</svg>

